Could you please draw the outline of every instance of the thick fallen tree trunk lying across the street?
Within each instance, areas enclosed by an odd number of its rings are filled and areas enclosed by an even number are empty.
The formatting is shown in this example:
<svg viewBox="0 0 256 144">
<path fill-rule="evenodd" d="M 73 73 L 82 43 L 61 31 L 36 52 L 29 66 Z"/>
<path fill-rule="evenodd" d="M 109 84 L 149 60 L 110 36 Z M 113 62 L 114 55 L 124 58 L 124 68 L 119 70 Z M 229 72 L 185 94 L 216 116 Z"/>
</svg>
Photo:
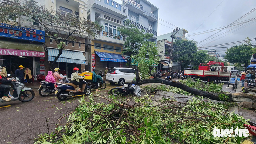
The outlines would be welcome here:
<svg viewBox="0 0 256 144">
<path fill-rule="evenodd" d="M 173 86 L 173 87 L 180 88 L 180 89 L 182 89 L 184 91 L 187 91 L 187 92 L 189 92 L 193 95 L 202 96 L 202 97 L 205 97 L 205 98 L 209 98 L 211 100 L 256 103 L 256 95 L 247 94 L 247 93 L 243 93 L 243 92 L 236 92 L 236 93 L 225 94 L 225 95 L 229 96 L 229 98 L 224 100 L 224 99 L 219 97 L 220 94 L 215 94 L 215 93 L 211 93 L 211 92 L 191 88 L 191 87 L 188 87 L 187 85 L 185 85 L 181 82 L 178 82 L 178 81 L 163 80 L 161 78 L 157 78 L 156 76 L 154 76 L 151 73 L 149 73 L 149 74 L 151 76 L 153 76 L 154 78 L 140 80 L 138 70 L 136 71 L 136 73 L 137 73 L 137 75 L 136 75 L 137 85 L 142 85 L 142 84 L 145 84 L 145 83 L 161 83 L 161 84 L 170 85 L 170 86 Z"/>
</svg>

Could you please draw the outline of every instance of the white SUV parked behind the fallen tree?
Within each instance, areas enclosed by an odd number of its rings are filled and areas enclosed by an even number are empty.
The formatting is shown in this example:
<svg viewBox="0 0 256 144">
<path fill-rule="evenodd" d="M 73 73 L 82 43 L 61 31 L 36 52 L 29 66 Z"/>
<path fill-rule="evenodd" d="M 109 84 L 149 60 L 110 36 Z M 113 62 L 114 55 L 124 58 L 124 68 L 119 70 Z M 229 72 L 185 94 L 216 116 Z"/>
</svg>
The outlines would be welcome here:
<svg viewBox="0 0 256 144">
<path fill-rule="evenodd" d="M 124 85 L 124 83 L 130 83 L 136 77 L 136 70 L 132 68 L 109 68 L 109 71 L 106 75 L 106 81 L 110 84 L 115 84 L 116 82 L 119 85 Z"/>
</svg>

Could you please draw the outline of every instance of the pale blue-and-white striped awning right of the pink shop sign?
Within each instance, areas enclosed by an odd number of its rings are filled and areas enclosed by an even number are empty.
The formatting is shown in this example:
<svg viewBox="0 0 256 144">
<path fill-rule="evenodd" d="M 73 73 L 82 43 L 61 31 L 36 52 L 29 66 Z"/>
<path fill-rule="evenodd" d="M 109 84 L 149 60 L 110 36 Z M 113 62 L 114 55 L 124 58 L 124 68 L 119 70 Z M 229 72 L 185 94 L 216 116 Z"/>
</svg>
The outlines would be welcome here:
<svg viewBox="0 0 256 144">
<path fill-rule="evenodd" d="M 58 49 L 47 48 L 48 61 L 54 61 L 55 57 L 59 54 Z M 62 50 L 62 54 L 56 62 L 67 62 L 76 64 L 86 64 L 83 52 L 76 52 L 73 50 Z"/>
</svg>

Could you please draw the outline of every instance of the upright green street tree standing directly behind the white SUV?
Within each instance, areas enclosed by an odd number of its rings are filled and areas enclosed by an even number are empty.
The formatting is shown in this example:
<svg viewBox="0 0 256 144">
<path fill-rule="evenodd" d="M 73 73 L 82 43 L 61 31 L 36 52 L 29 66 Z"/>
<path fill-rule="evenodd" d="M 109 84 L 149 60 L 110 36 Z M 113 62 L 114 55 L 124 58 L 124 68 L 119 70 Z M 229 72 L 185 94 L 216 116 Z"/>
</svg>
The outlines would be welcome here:
<svg viewBox="0 0 256 144">
<path fill-rule="evenodd" d="M 121 35 L 126 37 L 124 43 L 124 53 L 127 53 L 129 57 L 129 68 L 131 67 L 132 55 L 134 52 L 138 52 L 140 47 L 148 42 L 153 34 L 144 33 L 144 30 L 138 29 L 136 26 L 132 25 L 129 20 L 126 20 L 124 25 L 127 27 L 117 28 L 120 31 Z"/>
</svg>

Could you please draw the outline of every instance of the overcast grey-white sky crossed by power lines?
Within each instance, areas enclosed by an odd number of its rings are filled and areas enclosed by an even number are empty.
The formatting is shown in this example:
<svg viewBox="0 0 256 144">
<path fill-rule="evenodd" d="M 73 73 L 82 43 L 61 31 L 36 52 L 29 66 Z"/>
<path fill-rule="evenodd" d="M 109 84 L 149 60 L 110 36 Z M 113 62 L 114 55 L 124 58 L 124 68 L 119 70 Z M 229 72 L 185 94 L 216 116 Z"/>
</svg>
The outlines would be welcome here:
<svg viewBox="0 0 256 144">
<path fill-rule="evenodd" d="M 120 2 L 120 0 L 116 1 Z M 243 41 L 246 37 L 254 39 L 256 35 L 256 0 L 148 1 L 159 9 L 157 35 L 170 33 L 175 28 L 175 26 L 177 26 L 178 28 L 184 28 L 188 31 L 188 35 L 186 35 L 186 37 L 189 40 L 195 40 L 199 42 L 199 44 L 197 44 L 198 47 L 214 46 L 210 49 L 216 49 L 219 54 L 225 54 L 225 50 L 227 49 L 220 47 L 240 45 L 244 42 L 232 42 Z M 247 14 L 250 11 L 251 13 Z M 247 15 L 244 16 L 245 14 Z M 242 16 L 244 17 L 241 18 Z M 243 22 L 246 23 L 242 24 Z M 233 24 L 230 25 L 231 23 Z M 225 28 L 228 25 L 230 25 L 231 27 Z M 207 33 L 205 33 L 204 31 L 206 31 Z M 256 43 L 254 40 L 251 40 L 251 42 L 253 44 Z M 215 46 L 218 44 L 226 43 L 232 44 Z"/>
</svg>

